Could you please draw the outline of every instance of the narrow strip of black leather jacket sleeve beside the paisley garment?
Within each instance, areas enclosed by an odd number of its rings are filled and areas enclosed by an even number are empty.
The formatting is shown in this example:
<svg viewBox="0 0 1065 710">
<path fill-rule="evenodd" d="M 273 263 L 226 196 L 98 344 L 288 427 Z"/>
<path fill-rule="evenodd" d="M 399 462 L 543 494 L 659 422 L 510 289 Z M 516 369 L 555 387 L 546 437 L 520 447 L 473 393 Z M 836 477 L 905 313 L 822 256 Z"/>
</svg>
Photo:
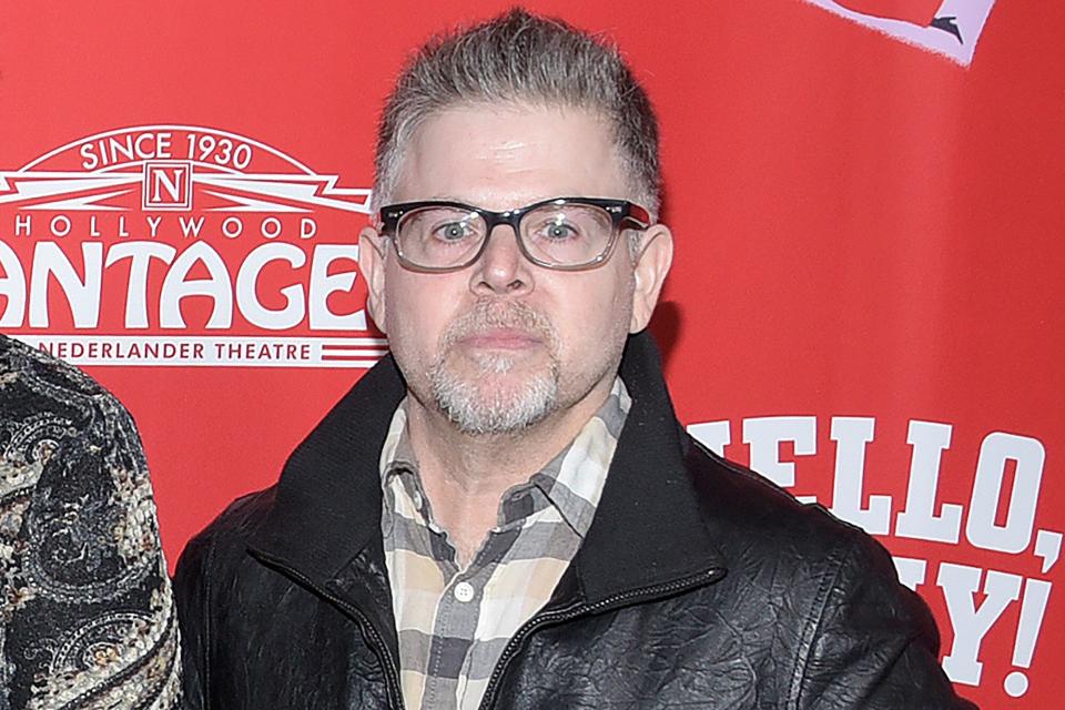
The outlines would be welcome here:
<svg viewBox="0 0 1065 710">
<path fill-rule="evenodd" d="M 209 570 L 211 546 L 201 534 L 185 546 L 174 574 L 174 598 L 181 626 L 185 710 L 210 708 L 211 610 Z"/>
</svg>

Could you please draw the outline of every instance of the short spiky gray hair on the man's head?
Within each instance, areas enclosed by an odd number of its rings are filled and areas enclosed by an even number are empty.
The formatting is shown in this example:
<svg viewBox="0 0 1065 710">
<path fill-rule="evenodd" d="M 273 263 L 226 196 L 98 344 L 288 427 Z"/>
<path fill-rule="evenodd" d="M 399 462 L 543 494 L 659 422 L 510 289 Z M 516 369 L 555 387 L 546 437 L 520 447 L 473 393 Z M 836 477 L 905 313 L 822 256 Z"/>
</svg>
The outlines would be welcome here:
<svg viewBox="0 0 1065 710">
<path fill-rule="evenodd" d="M 404 146 L 426 119 L 453 106 L 489 102 L 598 113 L 611 126 L 633 197 L 652 219 L 658 214 L 658 120 L 618 49 L 519 8 L 435 37 L 407 62 L 378 124 L 374 209 L 395 191 Z"/>
</svg>

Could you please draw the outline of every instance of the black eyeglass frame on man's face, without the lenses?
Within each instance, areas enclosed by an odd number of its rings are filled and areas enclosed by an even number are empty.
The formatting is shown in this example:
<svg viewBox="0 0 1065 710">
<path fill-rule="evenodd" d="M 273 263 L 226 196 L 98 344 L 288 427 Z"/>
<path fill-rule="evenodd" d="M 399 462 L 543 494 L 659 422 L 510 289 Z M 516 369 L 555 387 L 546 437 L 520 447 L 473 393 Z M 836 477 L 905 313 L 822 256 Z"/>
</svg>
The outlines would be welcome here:
<svg viewBox="0 0 1065 710">
<path fill-rule="evenodd" d="M 610 240 L 607 242 L 607 245 L 598 256 L 591 261 L 580 264 L 552 264 L 551 262 L 546 262 L 541 258 L 532 256 L 528 248 L 526 248 L 525 240 L 521 237 L 521 217 L 532 210 L 538 210 L 539 207 L 547 205 L 564 206 L 567 204 L 599 207 L 610 215 L 612 229 L 610 231 Z M 423 266 L 422 264 L 415 264 L 410 262 L 404 255 L 403 247 L 399 246 L 399 240 L 396 239 L 397 230 L 399 227 L 399 221 L 404 217 L 404 215 L 406 215 L 408 212 L 424 207 L 454 207 L 457 210 L 477 213 L 480 219 L 485 221 L 486 231 L 485 239 L 481 241 L 480 246 L 477 247 L 477 251 L 474 253 L 474 255 L 462 264 L 456 264 L 454 266 Z M 507 210 L 506 212 L 493 212 L 491 210 L 485 210 L 466 204 L 464 202 L 452 202 L 448 200 L 424 200 L 420 202 L 400 202 L 397 204 L 385 205 L 377 212 L 377 223 L 381 225 L 381 234 L 389 237 L 392 241 L 393 246 L 396 250 L 396 256 L 399 257 L 399 263 L 410 271 L 447 273 L 453 271 L 462 271 L 463 268 L 475 264 L 477 260 L 480 258 L 481 254 L 485 253 L 485 248 L 488 246 L 488 240 L 491 239 L 493 230 L 500 224 L 506 224 L 514 230 L 515 237 L 518 241 L 518 250 L 521 252 L 521 255 L 537 266 L 542 266 L 544 268 L 550 268 L 552 271 L 585 271 L 595 268 L 610 257 L 610 254 L 613 253 L 615 244 L 618 242 L 618 235 L 623 230 L 635 229 L 642 232 L 651 226 L 651 215 L 647 209 L 641 207 L 635 202 L 629 202 L 628 200 L 612 200 L 609 197 L 551 197 L 550 200 L 541 200 L 540 202 L 534 202 L 532 204 L 525 205 L 524 207 Z"/>
</svg>

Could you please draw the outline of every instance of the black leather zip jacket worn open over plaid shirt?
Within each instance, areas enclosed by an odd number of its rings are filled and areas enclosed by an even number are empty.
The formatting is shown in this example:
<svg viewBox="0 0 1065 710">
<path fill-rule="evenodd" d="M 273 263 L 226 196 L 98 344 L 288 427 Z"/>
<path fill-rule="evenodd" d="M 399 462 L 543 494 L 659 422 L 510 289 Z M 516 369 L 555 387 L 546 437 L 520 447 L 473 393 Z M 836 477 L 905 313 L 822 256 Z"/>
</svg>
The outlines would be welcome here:
<svg viewBox="0 0 1065 710">
<path fill-rule="evenodd" d="M 503 653 L 481 708 L 971 708 L 884 549 L 707 452 L 648 335 L 588 536 Z M 192 708 L 403 707 L 378 457 L 404 394 L 390 358 L 280 483 L 193 539 L 175 578 Z"/>
</svg>

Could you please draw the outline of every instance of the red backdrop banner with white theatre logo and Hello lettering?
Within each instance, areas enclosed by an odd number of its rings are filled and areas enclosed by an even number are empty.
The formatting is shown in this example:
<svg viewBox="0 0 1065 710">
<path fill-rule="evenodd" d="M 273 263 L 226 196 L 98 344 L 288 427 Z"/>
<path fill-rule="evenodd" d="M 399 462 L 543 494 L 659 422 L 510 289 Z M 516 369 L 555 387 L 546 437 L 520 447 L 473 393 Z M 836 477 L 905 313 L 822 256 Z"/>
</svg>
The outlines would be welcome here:
<svg viewBox="0 0 1065 710">
<path fill-rule="evenodd" d="M 507 6 L 0 2 L 0 331 L 133 413 L 171 564 L 386 352 L 377 112 Z M 529 7 L 616 40 L 660 112 L 690 432 L 881 539 L 963 694 L 1059 707 L 1065 9 Z"/>
</svg>

